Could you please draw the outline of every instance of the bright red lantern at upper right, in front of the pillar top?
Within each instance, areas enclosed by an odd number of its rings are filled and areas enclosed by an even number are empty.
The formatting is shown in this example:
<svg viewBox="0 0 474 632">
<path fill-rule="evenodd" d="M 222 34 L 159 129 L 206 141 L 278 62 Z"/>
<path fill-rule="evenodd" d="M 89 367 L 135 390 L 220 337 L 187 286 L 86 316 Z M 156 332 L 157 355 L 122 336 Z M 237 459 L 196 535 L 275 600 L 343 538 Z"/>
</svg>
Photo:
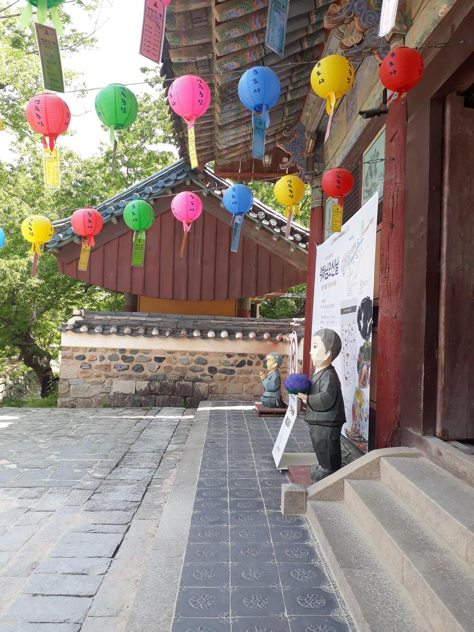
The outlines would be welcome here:
<svg viewBox="0 0 474 632">
<path fill-rule="evenodd" d="M 380 81 L 387 88 L 392 90 L 390 99 L 398 92 L 396 102 L 406 92 L 420 81 L 425 71 L 425 63 L 418 51 L 414 48 L 401 46 L 389 52 L 384 61 L 380 64 Z M 390 100 L 389 99 L 389 100 Z"/>
</svg>

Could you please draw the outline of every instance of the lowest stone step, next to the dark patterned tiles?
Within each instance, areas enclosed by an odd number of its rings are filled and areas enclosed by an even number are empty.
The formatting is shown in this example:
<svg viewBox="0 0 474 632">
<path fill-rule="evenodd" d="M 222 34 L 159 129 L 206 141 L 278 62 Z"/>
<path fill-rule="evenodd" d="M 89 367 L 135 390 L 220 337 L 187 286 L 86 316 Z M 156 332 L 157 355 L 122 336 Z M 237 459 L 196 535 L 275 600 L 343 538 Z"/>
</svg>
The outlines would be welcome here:
<svg viewBox="0 0 474 632">
<path fill-rule="evenodd" d="M 307 518 L 360 632 L 429 632 L 344 501 L 309 501 Z"/>
</svg>

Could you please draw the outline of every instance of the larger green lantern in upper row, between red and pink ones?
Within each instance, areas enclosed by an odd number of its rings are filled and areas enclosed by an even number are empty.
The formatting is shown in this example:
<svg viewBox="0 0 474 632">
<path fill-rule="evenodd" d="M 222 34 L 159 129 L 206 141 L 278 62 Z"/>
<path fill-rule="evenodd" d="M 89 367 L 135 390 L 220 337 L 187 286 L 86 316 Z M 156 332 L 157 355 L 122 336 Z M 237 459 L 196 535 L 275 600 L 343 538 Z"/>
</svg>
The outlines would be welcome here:
<svg viewBox="0 0 474 632">
<path fill-rule="evenodd" d="M 95 112 L 100 121 L 110 128 L 111 143 L 115 141 L 115 130 L 125 130 L 135 121 L 138 114 L 137 97 L 121 83 L 111 83 L 95 97 Z"/>
</svg>

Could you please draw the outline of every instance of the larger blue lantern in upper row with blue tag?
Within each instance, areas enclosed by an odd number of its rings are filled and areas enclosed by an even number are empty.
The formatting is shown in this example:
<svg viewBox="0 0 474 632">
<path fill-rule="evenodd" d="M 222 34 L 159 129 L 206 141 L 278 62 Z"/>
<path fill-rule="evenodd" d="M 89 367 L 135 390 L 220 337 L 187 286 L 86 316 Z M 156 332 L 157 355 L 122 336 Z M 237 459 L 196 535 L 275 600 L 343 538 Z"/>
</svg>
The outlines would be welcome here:
<svg viewBox="0 0 474 632">
<path fill-rule="evenodd" d="M 252 110 L 252 155 L 263 160 L 265 129 L 270 125 L 268 111 L 280 98 L 280 80 L 277 73 L 265 66 L 249 68 L 240 78 L 238 94 L 243 106 Z M 255 116 L 256 112 L 260 116 Z"/>
</svg>

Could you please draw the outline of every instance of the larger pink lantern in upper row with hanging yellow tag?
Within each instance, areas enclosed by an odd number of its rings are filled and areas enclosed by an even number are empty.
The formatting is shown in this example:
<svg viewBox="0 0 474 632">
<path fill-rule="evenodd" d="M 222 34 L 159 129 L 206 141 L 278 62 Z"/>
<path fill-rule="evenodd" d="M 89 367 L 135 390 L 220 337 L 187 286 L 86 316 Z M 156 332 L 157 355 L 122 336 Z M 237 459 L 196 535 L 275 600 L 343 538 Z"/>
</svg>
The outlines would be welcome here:
<svg viewBox="0 0 474 632">
<path fill-rule="evenodd" d="M 168 90 L 169 107 L 185 119 L 188 125 L 188 147 L 191 169 L 198 166 L 194 124 L 207 112 L 210 105 L 209 85 L 198 76 L 183 75 L 171 83 Z"/>
</svg>

